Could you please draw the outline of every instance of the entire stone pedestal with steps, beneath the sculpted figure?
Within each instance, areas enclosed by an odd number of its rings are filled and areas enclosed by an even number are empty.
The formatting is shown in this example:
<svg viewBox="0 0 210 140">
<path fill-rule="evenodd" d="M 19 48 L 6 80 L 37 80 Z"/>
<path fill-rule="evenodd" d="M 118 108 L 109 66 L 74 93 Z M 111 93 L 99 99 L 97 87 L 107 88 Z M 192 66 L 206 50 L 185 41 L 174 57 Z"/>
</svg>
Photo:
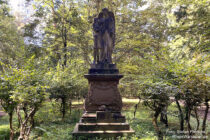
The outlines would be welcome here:
<svg viewBox="0 0 210 140">
<path fill-rule="evenodd" d="M 85 99 L 86 112 L 75 126 L 75 138 L 108 138 L 134 134 L 126 123 L 125 116 L 121 114 L 122 98 L 118 83 L 122 77 L 114 64 L 91 65 L 89 73 L 85 75 L 89 82 Z"/>
</svg>

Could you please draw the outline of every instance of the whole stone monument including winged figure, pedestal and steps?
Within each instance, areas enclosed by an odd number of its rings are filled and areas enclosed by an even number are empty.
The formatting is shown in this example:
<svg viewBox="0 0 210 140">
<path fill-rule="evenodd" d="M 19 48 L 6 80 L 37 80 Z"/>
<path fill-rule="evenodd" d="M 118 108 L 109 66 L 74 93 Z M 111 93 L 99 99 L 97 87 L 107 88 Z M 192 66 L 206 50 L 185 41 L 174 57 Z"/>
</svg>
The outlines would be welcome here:
<svg viewBox="0 0 210 140">
<path fill-rule="evenodd" d="M 73 136 L 117 137 L 134 134 L 121 114 L 122 98 L 118 90 L 119 74 L 112 63 L 115 46 L 114 14 L 104 8 L 94 19 L 94 61 L 85 78 L 89 91 L 85 99 L 85 113 L 76 124 Z"/>
</svg>

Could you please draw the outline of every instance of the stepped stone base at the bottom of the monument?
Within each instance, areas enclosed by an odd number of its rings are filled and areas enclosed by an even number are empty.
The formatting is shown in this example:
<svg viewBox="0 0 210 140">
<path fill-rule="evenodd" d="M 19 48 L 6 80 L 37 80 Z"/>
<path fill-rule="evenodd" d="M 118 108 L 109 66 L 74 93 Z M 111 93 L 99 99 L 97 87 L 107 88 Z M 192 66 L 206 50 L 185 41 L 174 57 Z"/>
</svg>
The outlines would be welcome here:
<svg viewBox="0 0 210 140">
<path fill-rule="evenodd" d="M 75 139 L 111 138 L 130 136 L 134 131 L 120 112 L 96 111 L 84 113 L 72 134 Z"/>
</svg>

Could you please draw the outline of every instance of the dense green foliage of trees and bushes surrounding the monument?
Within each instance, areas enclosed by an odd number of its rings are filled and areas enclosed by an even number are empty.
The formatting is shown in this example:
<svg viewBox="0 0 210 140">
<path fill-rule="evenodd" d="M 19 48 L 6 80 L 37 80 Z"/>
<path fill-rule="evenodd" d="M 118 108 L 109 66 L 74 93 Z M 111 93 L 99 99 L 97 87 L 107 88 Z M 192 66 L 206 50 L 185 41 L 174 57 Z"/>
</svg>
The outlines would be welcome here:
<svg viewBox="0 0 210 140">
<path fill-rule="evenodd" d="M 179 112 L 181 131 L 187 130 L 190 137 L 195 135 L 191 130 L 202 130 L 206 135 L 210 100 L 208 0 L 25 3 L 33 5 L 34 13 L 22 26 L 11 14 L 8 2 L 0 1 L 0 103 L 9 115 L 10 139 L 14 135 L 29 139 L 43 104 L 58 103 L 64 121 L 73 100 L 84 99 L 88 83 L 83 75 L 93 60 L 92 22 L 104 7 L 116 18 L 113 61 L 124 75 L 119 84 L 121 95 L 141 99 L 151 109 L 159 139 L 164 132 L 158 117 L 169 127 L 167 109 L 172 102 Z M 202 125 L 198 106 L 205 106 Z M 15 128 L 14 114 L 19 122 Z M 192 116 L 196 128 L 191 126 Z"/>
</svg>

